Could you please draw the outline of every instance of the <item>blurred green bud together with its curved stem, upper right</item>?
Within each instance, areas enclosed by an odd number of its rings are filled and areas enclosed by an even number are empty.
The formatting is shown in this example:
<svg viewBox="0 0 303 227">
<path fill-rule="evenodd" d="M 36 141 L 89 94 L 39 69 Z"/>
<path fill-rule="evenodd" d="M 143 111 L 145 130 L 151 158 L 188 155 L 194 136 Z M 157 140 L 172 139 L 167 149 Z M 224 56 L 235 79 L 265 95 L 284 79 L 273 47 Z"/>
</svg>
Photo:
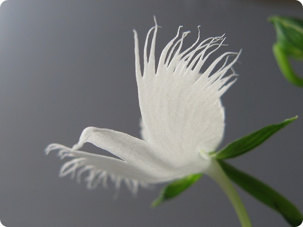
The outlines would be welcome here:
<svg viewBox="0 0 303 227">
<path fill-rule="evenodd" d="M 303 60 L 303 21 L 290 17 L 270 17 L 277 33 L 277 42 L 273 45 L 278 66 L 285 78 L 296 86 L 303 87 L 303 79 L 292 70 L 288 57 Z"/>
</svg>

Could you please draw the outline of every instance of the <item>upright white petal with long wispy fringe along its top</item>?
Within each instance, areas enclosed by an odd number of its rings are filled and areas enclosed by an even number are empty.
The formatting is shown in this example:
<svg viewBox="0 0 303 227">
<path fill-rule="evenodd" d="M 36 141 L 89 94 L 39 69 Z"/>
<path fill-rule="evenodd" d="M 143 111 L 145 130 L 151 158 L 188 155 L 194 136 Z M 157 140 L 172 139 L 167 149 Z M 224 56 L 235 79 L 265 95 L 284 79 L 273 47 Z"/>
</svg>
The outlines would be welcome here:
<svg viewBox="0 0 303 227">
<path fill-rule="evenodd" d="M 156 22 L 155 22 L 156 23 Z M 234 82 L 232 66 L 238 53 L 227 52 L 213 62 L 205 72 L 207 59 L 223 44 L 224 37 L 197 40 L 181 51 L 184 32 L 171 40 L 161 53 L 155 69 L 155 55 L 147 60 L 148 36 L 155 29 L 151 49 L 155 48 L 158 25 L 149 30 L 144 45 L 144 71 L 138 83 L 139 103 L 148 143 L 157 144 L 169 156 L 183 156 L 185 161 L 196 158 L 202 149 L 213 151 L 224 133 L 224 108 L 220 97 Z M 136 62 L 139 62 L 135 36 Z M 230 56 L 235 55 L 231 61 Z M 221 66 L 219 64 L 223 62 Z M 216 71 L 215 71 L 216 70 Z M 226 76 L 228 71 L 232 73 Z M 157 72 L 157 73 L 155 73 Z"/>
</svg>

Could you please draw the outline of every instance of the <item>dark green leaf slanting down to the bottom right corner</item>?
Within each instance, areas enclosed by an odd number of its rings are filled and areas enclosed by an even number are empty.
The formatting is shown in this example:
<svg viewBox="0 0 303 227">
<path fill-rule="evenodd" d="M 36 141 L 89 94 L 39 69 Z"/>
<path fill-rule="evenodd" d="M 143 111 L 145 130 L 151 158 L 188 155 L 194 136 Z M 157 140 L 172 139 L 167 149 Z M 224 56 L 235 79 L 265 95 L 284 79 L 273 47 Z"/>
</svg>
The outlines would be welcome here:
<svg viewBox="0 0 303 227">
<path fill-rule="evenodd" d="M 233 182 L 239 185 L 251 196 L 279 212 L 290 225 L 298 226 L 302 223 L 303 216 L 300 211 L 274 189 L 258 179 L 239 171 L 222 160 L 220 160 L 219 163 L 226 175 Z"/>
</svg>

